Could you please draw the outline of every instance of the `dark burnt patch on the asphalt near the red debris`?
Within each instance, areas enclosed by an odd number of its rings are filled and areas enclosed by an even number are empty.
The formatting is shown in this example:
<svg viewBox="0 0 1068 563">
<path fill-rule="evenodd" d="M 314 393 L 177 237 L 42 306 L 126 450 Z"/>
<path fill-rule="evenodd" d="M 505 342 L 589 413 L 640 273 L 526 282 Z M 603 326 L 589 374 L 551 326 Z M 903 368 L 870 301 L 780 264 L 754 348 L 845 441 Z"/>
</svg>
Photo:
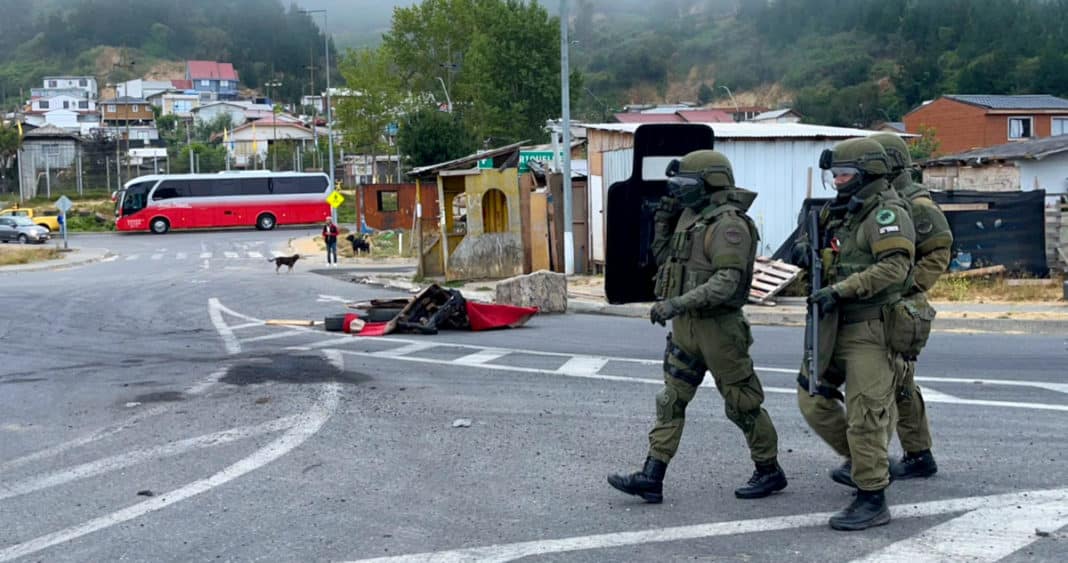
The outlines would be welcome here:
<svg viewBox="0 0 1068 563">
<path fill-rule="evenodd" d="M 268 360 L 268 361 L 264 361 Z M 339 370 L 323 356 L 273 356 L 253 358 L 248 363 L 239 363 L 219 379 L 220 382 L 247 386 L 268 381 L 279 384 L 327 384 L 339 382 L 359 385 L 370 381 L 371 376 Z"/>
</svg>

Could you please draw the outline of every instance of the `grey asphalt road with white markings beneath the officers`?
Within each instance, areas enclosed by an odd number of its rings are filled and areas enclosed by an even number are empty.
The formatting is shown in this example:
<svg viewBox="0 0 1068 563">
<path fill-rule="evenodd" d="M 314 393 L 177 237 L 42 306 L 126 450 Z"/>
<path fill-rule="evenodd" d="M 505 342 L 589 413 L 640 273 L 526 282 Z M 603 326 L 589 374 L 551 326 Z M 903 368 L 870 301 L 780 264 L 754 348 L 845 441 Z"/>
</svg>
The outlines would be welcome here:
<svg viewBox="0 0 1068 563">
<path fill-rule="evenodd" d="M 789 487 L 733 497 L 752 466 L 709 388 L 646 505 L 604 475 L 644 458 L 664 329 L 265 326 L 396 296 L 318 264 L 276 275 L 266 257 L 305 231 L 83 235 L 116 257 L 0 273 L 0 562 L 1068 559 L 1064 337 L 936 334 L 940 472 L 891 487 L 890 526 L 844 534 L 826 526 L 851 498 L 839 460 L 797 412 L 799 329 L 754 329 Z"/>
</svg>

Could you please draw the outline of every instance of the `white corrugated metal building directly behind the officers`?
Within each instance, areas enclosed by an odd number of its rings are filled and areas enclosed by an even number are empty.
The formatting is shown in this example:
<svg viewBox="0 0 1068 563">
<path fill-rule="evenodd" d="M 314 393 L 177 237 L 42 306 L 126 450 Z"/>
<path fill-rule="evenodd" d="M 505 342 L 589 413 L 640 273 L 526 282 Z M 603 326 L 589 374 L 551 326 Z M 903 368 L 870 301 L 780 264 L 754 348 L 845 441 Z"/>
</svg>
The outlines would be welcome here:
<svg viewBox="0 0 1068 563">
<path fill-rule="evenodd" d="M 633 141 L 637 123 L 585 124 L 588 141 L 588 225 L 591 260 L 604 262 L 604 202 L 616 182 L 630 177 L 633 170 Z M 827 198 L 819 155 L 824 148 L 876 131 L 803 125 L 800 123 L 709 123 L 716 134 L 716 150 L 734 168 L 738 186 L 759 196 L 750 216 L 760 232 L 758 253 L 771 255 L 794 232 L 798 213 L 807 197 Z M 684 155 L 676 155 L 681 157 Z M 643 166 L 661 177 L 671 157 Z"/>
</svg>

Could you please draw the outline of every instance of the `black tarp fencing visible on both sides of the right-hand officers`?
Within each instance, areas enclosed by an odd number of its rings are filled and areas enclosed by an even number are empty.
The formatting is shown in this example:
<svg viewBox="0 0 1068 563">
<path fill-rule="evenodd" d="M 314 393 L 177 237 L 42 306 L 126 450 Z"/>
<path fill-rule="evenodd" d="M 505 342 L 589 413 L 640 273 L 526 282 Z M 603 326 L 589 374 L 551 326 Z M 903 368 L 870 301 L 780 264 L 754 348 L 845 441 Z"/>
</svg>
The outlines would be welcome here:
<svg viewBox="0 0 1068 563">
<path fill-rule="evenodd" d="M 934 201 L 945 209 L 953 230 L 954 256 L 970 268 L 1005 266 L 1016 273 L 1047 276 L 1046 192 L 1035 191 L 932 191 Z M 800 217 L 827 199 L 805 200 Z M 955 209 L 956 206 L 976 207 Z M 981 209 L 977 207 L 984 207 Z M 789 261 L 795 230 L 772 257 Z M 964 260 L 970 257 L 971 260 Z M 968 268 L 964 268 L 968 269 Z"/>
</svg>

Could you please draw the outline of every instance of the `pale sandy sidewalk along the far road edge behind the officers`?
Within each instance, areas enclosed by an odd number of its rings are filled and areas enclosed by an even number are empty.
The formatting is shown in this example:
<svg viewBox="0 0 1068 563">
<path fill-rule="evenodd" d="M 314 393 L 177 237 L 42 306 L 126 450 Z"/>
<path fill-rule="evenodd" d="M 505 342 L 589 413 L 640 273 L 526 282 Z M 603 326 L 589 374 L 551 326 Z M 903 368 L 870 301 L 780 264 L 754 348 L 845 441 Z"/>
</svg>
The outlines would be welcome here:
<svg viewBox="0 0 1068 563">
<path fill-rule="evenodd" d="M 344 265 L 343 265 L 344 266 Z M 404 292 L 418 291 L 426 284 L 411 281 L 410 275 L 375 271 L 373 264 L 348 270 L 352 281 Z M 651 303 L 610 304 L 604 300 L 603 278 L 571 276 L 567 280 L 568 313 L 601 314 L 648 318 Z M 474 281 L 454 287 L 468 299 L 492 301 L 499 280 Z M 774 306 L 749 304 L 743 309 L 749 322 L 760 326 L 804 326 L 805 302 L 802 297 L 784 297 Z M 999 332 L 1006 334 L 1068 334 L 1068 302 L 1048 303 L 932 303 L 939 311 L 934 330 L 944 332 Z"/>
</svg>

